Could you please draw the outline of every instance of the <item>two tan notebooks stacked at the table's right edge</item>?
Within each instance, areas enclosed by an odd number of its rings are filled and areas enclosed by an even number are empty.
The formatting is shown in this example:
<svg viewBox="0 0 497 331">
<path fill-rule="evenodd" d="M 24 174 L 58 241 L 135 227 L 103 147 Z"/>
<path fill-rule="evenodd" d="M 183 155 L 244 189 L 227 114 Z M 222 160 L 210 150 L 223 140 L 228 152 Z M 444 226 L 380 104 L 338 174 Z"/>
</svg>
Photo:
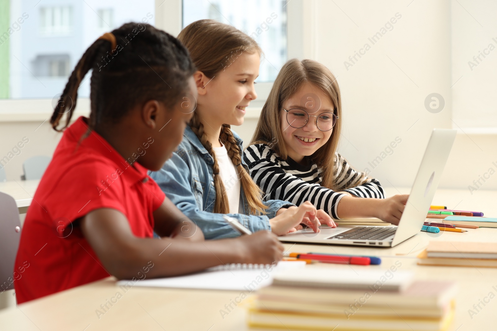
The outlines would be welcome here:
<svg viewBox="0 0 497 331">
<path fill-rule="evenodd" d="M 497 267 L 497 243 L 431 241 L 418 265 Z"/>
</svg>

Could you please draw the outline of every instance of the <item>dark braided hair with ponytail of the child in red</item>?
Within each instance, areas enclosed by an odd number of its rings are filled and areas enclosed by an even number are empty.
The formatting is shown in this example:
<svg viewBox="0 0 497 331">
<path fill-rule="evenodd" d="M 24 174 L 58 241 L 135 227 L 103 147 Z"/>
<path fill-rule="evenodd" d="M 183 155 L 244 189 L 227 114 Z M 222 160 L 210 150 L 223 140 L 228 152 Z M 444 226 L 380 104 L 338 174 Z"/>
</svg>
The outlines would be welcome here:
<svg viewBox="0 0 497 331">
<path fill-rule="evenodd" d="M 111 35 L 111 38 L 104 36 Z M 195 72 L 186 48 L 173 36 L 142 23 L 126 23 L 97 39 L 84 52 L 50 119 L 58 132 L 69 126 L 78 88 L 92 69 L 89 129 L 117 123 L 130 109 L 149 100 L 169 108 L 188 91 Z M 64 114 L 66 122 L 58 128 Z"/>
</svg>

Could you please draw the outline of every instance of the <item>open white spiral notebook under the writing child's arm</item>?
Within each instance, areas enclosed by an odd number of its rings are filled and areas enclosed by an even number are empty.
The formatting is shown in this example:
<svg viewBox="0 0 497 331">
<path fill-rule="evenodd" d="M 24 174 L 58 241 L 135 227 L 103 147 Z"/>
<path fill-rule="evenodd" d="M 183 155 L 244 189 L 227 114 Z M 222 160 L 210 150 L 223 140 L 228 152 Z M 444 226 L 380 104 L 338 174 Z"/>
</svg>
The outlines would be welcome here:
<svg viewBox="0 0 497 331">
<path fill-rule="evenodd" d="M 184 276 L 143 279 L 136 282 L 120 280 L 117 285 L 251 292 L 270 285 L 272 275 L 277 271 L 303 268 L 305 265 L 305 261 L 280 261 L 278 265 L 219 265 Z"/>
</svg>

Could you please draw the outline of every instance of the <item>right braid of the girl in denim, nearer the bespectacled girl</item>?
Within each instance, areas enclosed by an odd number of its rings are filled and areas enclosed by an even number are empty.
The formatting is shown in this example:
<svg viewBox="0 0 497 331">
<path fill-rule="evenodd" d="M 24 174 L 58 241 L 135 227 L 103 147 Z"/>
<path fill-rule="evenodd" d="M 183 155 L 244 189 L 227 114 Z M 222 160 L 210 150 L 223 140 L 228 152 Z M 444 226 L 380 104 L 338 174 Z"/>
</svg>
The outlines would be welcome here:
<svg viewBox="0 0 497 331">
<path fill-rule="evenodd" d="M 250 214 L 265 214 L 267 206 L 262 203 L 262 191 L 257 184 L 254 183 L 247 170 L 242 165 L 240 146 L 238 146 L 237 140 L 235 139 L 235 136 L 233 136 L 233 132 L 231 132 L 230 125 L 223 125 L 220 138 L 224 142 L 226 150 L 228 151 L 228 156 L 237 167 L 240 183 L 244 189 L 245 198 L 247 199 L 250 208 Z"/>
</svg>

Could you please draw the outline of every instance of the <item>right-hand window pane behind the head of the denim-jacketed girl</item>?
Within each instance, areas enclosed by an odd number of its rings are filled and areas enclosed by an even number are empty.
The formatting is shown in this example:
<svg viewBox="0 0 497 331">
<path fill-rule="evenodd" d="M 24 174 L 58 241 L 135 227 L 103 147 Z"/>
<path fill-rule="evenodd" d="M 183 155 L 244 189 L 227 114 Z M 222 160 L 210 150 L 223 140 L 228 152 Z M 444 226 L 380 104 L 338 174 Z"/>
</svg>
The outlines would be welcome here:
<svg viewBox="0 0 497 331">
<path fill-rule="evenodd" d="M 247 33 L 264 53 L 257 82 L 272 82 L 287 59 L 285 0 L 183 0 L 183 27 L 215 19 Z"/>
</svg>

